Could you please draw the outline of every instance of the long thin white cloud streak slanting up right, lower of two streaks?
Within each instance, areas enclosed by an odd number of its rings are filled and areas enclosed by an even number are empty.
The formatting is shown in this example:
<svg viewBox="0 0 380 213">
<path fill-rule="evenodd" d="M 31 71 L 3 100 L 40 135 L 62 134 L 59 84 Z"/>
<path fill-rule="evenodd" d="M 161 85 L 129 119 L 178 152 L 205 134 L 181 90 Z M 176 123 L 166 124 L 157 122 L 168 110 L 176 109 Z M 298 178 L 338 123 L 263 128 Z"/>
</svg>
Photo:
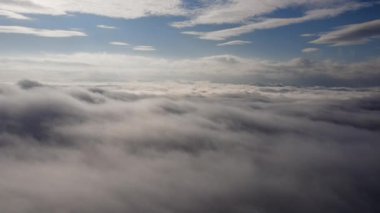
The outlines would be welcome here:
<svg viewBox="0 0 380 213">
<path fill-rule="evenodd" d="M 251 33 L 256 30 L 273 29 L 292 24 L 299 24 L 312 20 L 320 20 L 338 16 L 342 13 L 352 10 L 358 10 L 366 7 L 367 3 L 347 3 L 333 8 L 313 9 L 305 13 L 304 16 L 296 18 L 261 18 L 259 21 L 244 24 L 238 27 L 227 28 L 223 30 L 210 32 L 183 32 L 184 34 L 195 35 L 200 39 L 205 40 L 226 40 L 231 37 L 236 37 L 242 34 Z"/>
</svg>

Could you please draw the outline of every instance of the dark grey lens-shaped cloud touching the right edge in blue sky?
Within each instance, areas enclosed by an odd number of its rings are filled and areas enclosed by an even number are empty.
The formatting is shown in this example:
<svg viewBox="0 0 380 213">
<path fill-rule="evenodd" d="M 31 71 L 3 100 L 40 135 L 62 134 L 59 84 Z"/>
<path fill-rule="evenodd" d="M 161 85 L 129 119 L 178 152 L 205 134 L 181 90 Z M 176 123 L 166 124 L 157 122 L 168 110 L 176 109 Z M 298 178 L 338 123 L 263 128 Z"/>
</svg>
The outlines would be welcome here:
<svg viewBox="0 0 380 213">
<path fill-rule="evenodd" d="M 314 44 L 329 44 L 332 46 L 350 46 L 370 42 L 380 37 L 380 19 L 359 24 L 351 24 L 337 30 L 324 33 Z"/>
</svg>

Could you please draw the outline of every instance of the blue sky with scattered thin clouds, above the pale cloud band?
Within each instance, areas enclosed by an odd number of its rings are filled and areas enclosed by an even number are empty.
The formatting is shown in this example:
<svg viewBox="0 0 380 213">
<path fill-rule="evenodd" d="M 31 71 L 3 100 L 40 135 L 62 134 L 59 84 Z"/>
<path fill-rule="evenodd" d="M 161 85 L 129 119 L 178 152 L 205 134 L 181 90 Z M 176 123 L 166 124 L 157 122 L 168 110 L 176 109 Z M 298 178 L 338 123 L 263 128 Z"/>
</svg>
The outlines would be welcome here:
<svg viewBox="0 0 380 213">
<path fill-rule="evenodd" d="M 380 55 L 378 11 L 377 1 L 354 0 L 7 0 L 0 55 L 360 63 Z"/>
</svg>

